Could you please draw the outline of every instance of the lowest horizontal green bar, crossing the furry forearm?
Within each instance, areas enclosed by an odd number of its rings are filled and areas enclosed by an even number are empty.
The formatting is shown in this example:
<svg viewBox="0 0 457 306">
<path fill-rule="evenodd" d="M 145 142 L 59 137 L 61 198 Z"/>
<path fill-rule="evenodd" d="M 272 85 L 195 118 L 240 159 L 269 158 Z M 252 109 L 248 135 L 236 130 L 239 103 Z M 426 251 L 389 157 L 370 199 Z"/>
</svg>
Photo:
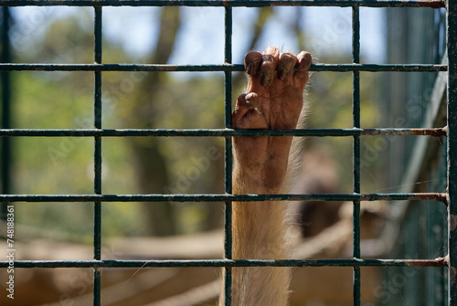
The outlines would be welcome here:
<svg viewBox="0 0 457 306">
<path fill-rule="evenodd" d="M 15 260 L 15 268 L 191 268 L 191 267 L 446 267 L 438 259 L 198 259 L 198 260 Z M 0 269 L 8 261 L 0 261 Z"/>
</svg>

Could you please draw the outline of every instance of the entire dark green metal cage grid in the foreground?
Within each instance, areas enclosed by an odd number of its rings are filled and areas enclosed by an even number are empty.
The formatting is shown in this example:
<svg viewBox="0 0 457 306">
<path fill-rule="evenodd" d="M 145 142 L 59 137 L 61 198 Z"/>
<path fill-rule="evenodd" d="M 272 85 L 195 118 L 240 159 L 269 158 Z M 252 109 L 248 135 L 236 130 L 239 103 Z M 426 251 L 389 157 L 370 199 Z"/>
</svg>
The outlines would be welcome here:
<svg viewBox="0 0 457 306">
<path fill-rule="evenodd" d="M 13 207 L 15 202 L 92 202 L 94 210 L 93 220 L 93 259 L 91 260 L 14 260 L 16 269 L 31 268 L 90 268 L 93 269 L 93 305 L 101 305 L 101 269 L 141 268 L 141 267 L 225 267 L 225 304 L 231 304 L 231 268 L 232 267 L 352 267 L 353 269 L 353 297 L 354 305 L 360 305 L 360 288 L 362 267 L 436 267 L 447 268 L 449 282 L 443 291 L 448 292 L 449 305 L 457 305 L 457 282 L 455 270 L 457 269 L 457 4 L 453 0 L 441 1 L 409 1 L 409 0 L 0 0 L 4 9 L 4 27 L 7 27 L 7 7 L 22 5 L 69 5 L 92 6 L 95 14 L 93 37 L 95 41 L 93 64 L 17 64 L 8 59 L 7 48 L 3 49 L 3 62 L 0 63 L 2 76 L 4 109 L 3 128 L 0 136 L 3 140 L 3 192 L 0 200 L 5 207 Z M 102 33 L 101 16 L 103 6 L 222 6 L 225 8 L 225 56 L 224 63 L 220 65 L 143 65 L 143 64 L 104 64 L 102 61 Z M 352 63 L 351 64 L 314 64 L 312 71 L 348 71 L 353 76 L 353 128 L 352 129 L 306 129 L 292 131 L 243 131 L 231 129 L 231 87 L 232 72 L 242 71 L 243 66 L 232 63 L 232 8 L 237 6 L 270 6 L 270 5 L 303 5 L 303 6 L 342 6 L 352 7 Z M 359 8 L 367 7 L 445 7 L 447 11 L 446 37 L 447 37 L 447 62 L 443 64 L 392 64 L 375 65 L 360 63 L 360 18 Z M 4 31 L 5 33 L 6 31 Z M 4 37 L 4 42 L 7 37 Z M 49 130 L 49 129 L 11 129 L 8 123 L 8 72 L 18 70 L 44 70 L 44 71 L 93 71 L 93 129 L 78 130 Z M 101 122 L 101 75 L 104 71 L 221 71 L 225 74 L 225 129 L 215 130 L 160 130 L 160 129 L 127 129 L 108 130 L 102 127 Z M 383 128 L 363 129 L 360 125 L 360 72 L 362 71 L 402 71 L 402 72 L 440 72 L 447 74 L 442 84 L 447 89 L 447 129 L 406 129 Z M 231 186 L 231 137 L 236 135 L 295 135 L 308 137 L 349 137 L 353 139 L 353 193 L 338 195 L 232 195 Z M 448 192 L 388 193 L 388 194 L 362 194 L 360 191 L 360 160 L 361 138 L 373 135 L 420 135 L 432 137 L 445 137 L 447 139 L 447 177 Z M 87 137 L 94 142 L 94 181 L 93 194 L 91 195 L 9 195 L 8 194 L 8 164 L 10 148 L 8 139 L 13 137 Z M 101 142 L 103 138 L 123 136 L 211 136 L 225 138 L 225 194 L 222 195 L 106 195 L 101 190 Z M 232 201 L 263 201 L 263 200 L 321 200 L 321 201 L 351 201 L 353 209 L 353 259 L 303 259 L 303 260 L 233 260 L 231 259 Z M 360 254 L 360 202 L 361 201 L 403 201 L 423 200 L 427 203 L 436 203 L 448 206 L 448 254 L 445 258 L 438 259 L 363 259 Z M 212 260 L 106 260 L 101 258 L 101 203 L 102 202 L 225 202 L 225 259 Z M 7 213 L 7 211 L 5 211 Z M 12 239 L 14 248 L 14 239 Z M 6 249 L 9 249 L 8 247 Z M 8 260 L 0 261 L 0 268 L 10 267 Z M 444 285 L 443 285 L 444 286 Z"/>
</svg>

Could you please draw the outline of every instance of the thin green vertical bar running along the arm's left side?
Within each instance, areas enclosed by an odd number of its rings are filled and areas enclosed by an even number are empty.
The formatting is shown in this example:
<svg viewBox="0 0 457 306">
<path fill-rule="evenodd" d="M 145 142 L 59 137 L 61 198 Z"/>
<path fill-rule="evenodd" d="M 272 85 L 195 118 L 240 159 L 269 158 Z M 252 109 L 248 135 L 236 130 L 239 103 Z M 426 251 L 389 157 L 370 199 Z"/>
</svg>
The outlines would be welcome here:
<svg viewBox="0 0 457 306">
<path fill-rule="evenodd" d="M 224 46 L 224 60 L 227 64 L 232 62 L 232 7 L 225 6 L 225 46 Z M 225 127 L 231 128 L 231 90 L 232 90 L 232 75 L 231 71 L 225 71 L 224 75 L 224 106 L 225 106 Z M 231 137 L 225 139 L 225 192 L 226 194 L 232 193 L 232 142 Z M 224 239 L 224 252 L 225 258 L 232 258 L 232 204 L 226 202 L 225 204 L 225 239 Z M 231 268 L 224 269 L 224 305 L 231 305 Z"/>
</svg>

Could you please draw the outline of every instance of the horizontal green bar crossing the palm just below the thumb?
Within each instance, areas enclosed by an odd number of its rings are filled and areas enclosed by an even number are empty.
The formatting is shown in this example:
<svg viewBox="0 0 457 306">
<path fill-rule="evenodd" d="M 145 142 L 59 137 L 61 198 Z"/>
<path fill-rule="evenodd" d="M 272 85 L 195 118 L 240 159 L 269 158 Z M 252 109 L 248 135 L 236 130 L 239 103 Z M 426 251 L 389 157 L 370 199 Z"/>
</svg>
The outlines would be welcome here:
<svg viewBox="0 0 457 306">
<path fill-rule="evenodd" d="M 304 130 L 233 130 L 233 129 L 0 129 L 0 137 L 127 137 L 127 136 L 446 136 L 446 130 L 432 129 L 304 129 Z"/>
</svg>

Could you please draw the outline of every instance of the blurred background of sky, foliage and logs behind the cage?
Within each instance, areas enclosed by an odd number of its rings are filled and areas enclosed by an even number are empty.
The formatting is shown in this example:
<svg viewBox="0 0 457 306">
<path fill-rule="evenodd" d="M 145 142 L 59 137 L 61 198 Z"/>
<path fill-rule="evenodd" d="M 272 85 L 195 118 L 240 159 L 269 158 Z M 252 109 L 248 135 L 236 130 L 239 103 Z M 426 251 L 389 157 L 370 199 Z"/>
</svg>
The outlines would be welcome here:
<svg viewBox="0 0 457 306">
<path fill-rule="evenodd" d="M 12 62 L 93 63 L 93 8 L 26 6 L 9 13 Z M 351 13 L 341 7 L 233 8 L 233 63 L 241 64 L 250 49 L 268 46 L 310 51 L 314 63 L 351 63 Z M 444 13 L 361 7 L 361 62 L 441 63 Z M 223 7 L 103 7 L 102 25 L 103 63 L 224 62 Z M 11 128 L 93 128 L 93 72 L 13 71 L 9 78 Z M 224 128 L 223 78 L 222 72 L 102 72 L 102 127 Z M 361 72 L 362 128 L 443 127 L 443 82 L 443 74 L 434 72 Z M 234 100 L 245 83 L 244 74 L 233 73 Z M 351 100 L 351 72 L 314 72 L 307 127 L 352 128 Z M 11 145 L 7 193 L 93 194 L 92 138 L 17 137 Z M 221 194 L 223 145 L 218 137 L 103 138 L 101 191 Z M 350 137 L 309 137 L 304 147 L 292 192 L 352 193 Z M 445 147 L 440 138 L 362 138 L 362 193 L 445 192 Z M 15 203 L 15 209 L 17 259 L 92 258 L 92 203 Z M 294 258 L 352 258 L 351 204 L 293 203 L 292 214 Z M 361 214 L 364 258 L 444 256 L 441 203 L 366 202 Z M 103 203 L 101 225 L 103 259 L 219 259 L 223 254 L 222 203 Z M 101 301 L 214 305 L 219 274 L 218 269 L 103 270 Z M 363 268 L 362 302 L 444 305 L 445 274 L 436 268 Z M 1 280 L 5 275 L 0 271 Z M 16 269 L 16 299 L 2 294 L 0 301 L 89 305 L 91 286 L 90 269 Z M 352 303 L 352 269 L 294 271 L 292 306 Z"/>
</svg>

